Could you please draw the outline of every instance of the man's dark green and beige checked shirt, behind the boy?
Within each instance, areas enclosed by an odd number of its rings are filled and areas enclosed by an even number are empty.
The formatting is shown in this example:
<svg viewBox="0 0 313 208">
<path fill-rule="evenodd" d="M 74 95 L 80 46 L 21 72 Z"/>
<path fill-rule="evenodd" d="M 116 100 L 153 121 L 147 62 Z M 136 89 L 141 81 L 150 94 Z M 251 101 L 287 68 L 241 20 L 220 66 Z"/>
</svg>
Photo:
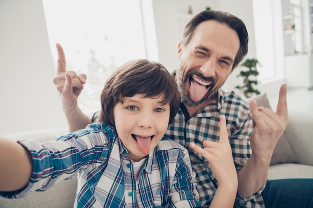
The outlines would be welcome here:
<svg viewBox="0 0 313 208">
<path fill-rule="evenodd" d="M 194 142 L 203 147 L 204 140 L 218 142 L 220 115 L 226 117 L 229 143 L 238 172 L 250 157 L 249 137 L 252 132 L 252 117 L 249 106 L 233 91 L 226 93 L 220 89 L 216 102 L 205 106 L 191 118 L 184 105 L 181 104 L 175 120 L 169 125 L 165 134 L 188 149 L 192 169 L 196 173 L 200 202 L 204 207 L 209 207 L 217 189 L 217 181 L 207 160 L 194 152 L 190 148 L 190 143 Z M 235 207 L 264 207 L 260 195 L 262 190 L 263 188 L 248 198 L 242 198 L 237 194 Z"/>
</svg>

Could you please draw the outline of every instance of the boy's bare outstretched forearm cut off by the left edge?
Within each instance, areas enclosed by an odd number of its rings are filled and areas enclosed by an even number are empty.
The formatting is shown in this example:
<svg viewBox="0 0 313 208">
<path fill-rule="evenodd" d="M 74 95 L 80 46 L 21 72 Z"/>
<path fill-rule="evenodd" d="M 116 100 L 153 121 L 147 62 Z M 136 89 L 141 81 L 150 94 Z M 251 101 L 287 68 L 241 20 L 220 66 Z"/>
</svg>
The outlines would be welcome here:
<svg viewBox="0 0 313 208">
<path fill-rule="evenodd" d="M 0 167 L 0 191 L 20 190 L 30 180 L 30 152 L 17 142 L 0 138 Z"/>
</svg>

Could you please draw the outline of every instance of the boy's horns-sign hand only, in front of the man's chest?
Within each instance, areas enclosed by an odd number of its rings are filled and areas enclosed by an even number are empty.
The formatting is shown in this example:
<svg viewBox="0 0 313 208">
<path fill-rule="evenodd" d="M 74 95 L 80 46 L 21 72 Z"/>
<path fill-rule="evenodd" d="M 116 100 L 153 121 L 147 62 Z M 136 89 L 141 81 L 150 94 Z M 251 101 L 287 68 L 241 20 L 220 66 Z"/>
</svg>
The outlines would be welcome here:
<svg viewBox="0 0 313 208">
<path fill-rule="evenodd" d="M 203 156 L 218 182 L 218 186 L 237 186 L 237 174 L 228 140 L 225 116 L 220 116 L 219 141 L 203 141 L 204 149 L 191 143 L 190 147 Z M 236 189 L 236 188 L 235 188 Z"/>
</svg>

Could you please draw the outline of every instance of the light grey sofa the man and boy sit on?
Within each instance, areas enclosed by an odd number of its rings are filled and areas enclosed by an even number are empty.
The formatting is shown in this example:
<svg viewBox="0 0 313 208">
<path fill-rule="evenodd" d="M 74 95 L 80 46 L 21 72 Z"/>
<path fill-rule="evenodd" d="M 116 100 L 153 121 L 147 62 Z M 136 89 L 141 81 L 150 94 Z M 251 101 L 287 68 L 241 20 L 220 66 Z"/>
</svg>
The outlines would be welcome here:
<svg viewBox="0 0 313 208">
<path fill-rule="evenodd" d="M 269 107 L 266 94 L 255 97 L 258 106 Z M 248 101 L 248 100 L 247 100 Z M 313 178 L 313 112 L 288 111 L 289 125 L 274 149 L 268 179 Z M 2 136 L 16 141 L 55 140 L 67 134 L 66 128 L 46 129 Z M 44 138 L 44 139 L 42 139 Z M 0 197 L 0 208 L 72 208 L 76 194 L 75 178 L 56 184 L 45 192 L 32 192 L 22 199 Z"/>
</svg>

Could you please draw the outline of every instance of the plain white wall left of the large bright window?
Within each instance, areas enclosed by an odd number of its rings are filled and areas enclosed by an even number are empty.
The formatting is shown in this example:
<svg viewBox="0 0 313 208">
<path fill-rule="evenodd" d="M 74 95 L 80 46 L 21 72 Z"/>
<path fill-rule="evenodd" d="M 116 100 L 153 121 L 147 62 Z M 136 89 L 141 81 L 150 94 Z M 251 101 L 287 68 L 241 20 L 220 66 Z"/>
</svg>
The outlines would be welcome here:
<svg viewBox="0 0 313 208">
<path fill-rule="evenodd" d="M 41 0 L 0 0 L 0 135 L 65 127 Z"/>
</svg>

